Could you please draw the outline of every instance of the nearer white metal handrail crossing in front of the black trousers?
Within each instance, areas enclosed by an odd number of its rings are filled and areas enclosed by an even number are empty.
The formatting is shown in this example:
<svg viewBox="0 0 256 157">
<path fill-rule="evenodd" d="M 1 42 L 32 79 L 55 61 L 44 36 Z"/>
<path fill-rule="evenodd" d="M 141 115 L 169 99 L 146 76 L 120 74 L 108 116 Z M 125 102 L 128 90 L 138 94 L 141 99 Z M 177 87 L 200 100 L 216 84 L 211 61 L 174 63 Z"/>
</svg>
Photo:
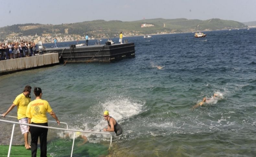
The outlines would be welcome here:
<svg viewBox="0 0 256 157">
<path fill-rule="evenodd" d="M 9 151 L 8 151 L 8 156 L 7 156 L 7 157 L 10 156 L 10 152 L 11 152 L 12 139 L 13 139 L 13 132 L 14 132 L 15 124 L 27 125 L 27 126 L 33 126 L 33 127 L 39 127 L 39 128 L 49 128 L 49 129 L 57 129 L 57 130 L 65 130 L 65 131 L 74 131 L 74 139 L 73 139 L 73 144 L 72 144 L 71 157 L 72 157 L 72 154 L 73 154 L 73 148 L 74 148 L 74 142 L 75 142 L 75 135 L 76 135 L 76 132 L 85 132 L 85 133 L 96 133 L 96 134 L 110 135 L 109 150 L 110 150 L 111 143 L 112 143 L 112 135 L 111 135 L 110 133 L 105 133 L 105 132 L 94 132 L 94 131 L 83 131 L 83 130 L 75 130 L 75 129 L 63 129 L 63 128 L 55 128 L 55 127 L 46 127 L 46 126 L 41 126 L 41 125 L 19 123 L 19 122 L 14 122 L 14 121 L 9 121 L 9 120 L 2 120 L 2 119 L 0 119 L 0 122 L 12 123 L 12 124 L 13 124 L 12 135 L 11 135 L 11 140 L 10 140 Z"/>
</svg>

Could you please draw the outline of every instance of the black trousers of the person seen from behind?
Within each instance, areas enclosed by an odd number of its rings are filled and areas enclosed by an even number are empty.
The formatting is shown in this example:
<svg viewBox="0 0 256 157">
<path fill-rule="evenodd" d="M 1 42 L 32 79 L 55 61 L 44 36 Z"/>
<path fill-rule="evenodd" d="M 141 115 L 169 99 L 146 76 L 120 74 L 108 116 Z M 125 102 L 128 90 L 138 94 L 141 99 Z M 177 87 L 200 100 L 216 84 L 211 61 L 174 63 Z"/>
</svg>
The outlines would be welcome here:
<svg viewBox="0 0 256 157">
<path fill-rule="evenodd" d="M 34 125 L 48 126 L 48 123 L 31 123 Z M 46 157 L 47 153 L 47 128 L 30 127 L 31 134 L 31 155 L 36 157 L 38 137 L 40 138 L 40 157 Z"/>
</svg>

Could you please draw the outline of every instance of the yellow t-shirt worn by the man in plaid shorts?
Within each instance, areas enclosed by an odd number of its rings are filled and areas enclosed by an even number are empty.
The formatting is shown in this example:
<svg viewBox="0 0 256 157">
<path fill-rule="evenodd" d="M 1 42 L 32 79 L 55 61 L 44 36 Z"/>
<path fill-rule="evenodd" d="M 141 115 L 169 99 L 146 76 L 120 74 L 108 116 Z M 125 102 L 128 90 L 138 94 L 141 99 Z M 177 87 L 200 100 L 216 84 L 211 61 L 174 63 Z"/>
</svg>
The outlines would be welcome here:
<svg viewBox="0 0 256 157">
<path fill-rule="evenodd" d="M 17 116 L 18 119 L 26 118 L 26 110 L 27 106 L 31 99 L 29 97 L 26 97 L 23 93 L 18 95 L 13 103 L 17 106 Z"/>
</svg>

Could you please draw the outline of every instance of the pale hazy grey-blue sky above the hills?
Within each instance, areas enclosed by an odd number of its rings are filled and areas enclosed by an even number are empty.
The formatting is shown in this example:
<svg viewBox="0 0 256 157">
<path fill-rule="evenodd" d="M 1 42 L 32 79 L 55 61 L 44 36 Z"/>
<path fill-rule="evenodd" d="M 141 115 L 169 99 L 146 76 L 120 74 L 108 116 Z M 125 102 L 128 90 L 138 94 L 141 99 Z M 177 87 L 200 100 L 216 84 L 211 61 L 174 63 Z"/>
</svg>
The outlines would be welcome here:
<svg viewBox="0 0 256 157">
<path fill-rule="evenodd" d="M 0 0 L 0 27 L 92 20 L 220 18 L 256 21 L 256 0 Z"/>
</svg>

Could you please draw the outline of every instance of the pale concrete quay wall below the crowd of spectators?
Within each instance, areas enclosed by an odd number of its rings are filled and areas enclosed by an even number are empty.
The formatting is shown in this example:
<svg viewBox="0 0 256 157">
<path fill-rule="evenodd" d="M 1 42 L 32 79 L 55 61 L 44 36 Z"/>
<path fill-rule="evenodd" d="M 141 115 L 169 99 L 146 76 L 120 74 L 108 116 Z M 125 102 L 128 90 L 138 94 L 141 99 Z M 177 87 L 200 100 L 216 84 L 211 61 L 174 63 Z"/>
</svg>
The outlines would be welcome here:
<svg viewBox="0 0 256 157">
<path fill-rule="evenodd" d="M 3 60 L 0 61 L 0 75 L 17 72 L 24 69 L 55 65 L 58 63 L 58 53 L 47 53 L 31 57 Z"/>
</svg>

